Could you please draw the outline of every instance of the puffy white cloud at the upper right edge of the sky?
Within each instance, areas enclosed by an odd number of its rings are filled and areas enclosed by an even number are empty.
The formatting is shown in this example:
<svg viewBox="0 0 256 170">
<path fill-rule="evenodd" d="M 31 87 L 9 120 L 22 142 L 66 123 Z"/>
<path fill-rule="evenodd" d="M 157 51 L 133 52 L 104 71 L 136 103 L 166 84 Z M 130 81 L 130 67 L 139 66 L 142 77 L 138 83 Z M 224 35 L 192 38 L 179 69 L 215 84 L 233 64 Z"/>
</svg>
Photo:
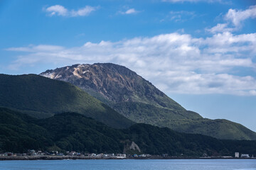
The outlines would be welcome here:
<svg viewBox="0 0 256 170">
<path fill-rule="evenodd" d="M 231 8 L 223 18 L 227 23 L 218 23 L 217 26 L 206 30 L 210 33 L 233 32 L 242 28 L 242 21 L 247 18 L 256 18 L 256 6 L 250 6 L 244 11 Z"/>
</svg>

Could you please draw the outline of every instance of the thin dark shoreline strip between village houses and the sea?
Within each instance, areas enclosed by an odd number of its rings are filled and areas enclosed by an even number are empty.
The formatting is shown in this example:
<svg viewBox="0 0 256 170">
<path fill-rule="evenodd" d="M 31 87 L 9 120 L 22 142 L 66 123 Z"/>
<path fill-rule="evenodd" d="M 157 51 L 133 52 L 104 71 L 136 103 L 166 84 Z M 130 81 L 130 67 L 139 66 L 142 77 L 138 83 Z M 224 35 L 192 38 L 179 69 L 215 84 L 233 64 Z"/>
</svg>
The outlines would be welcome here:
<svg viewBox="0 0 256 170">
<path fill-rule="evenodd" d="M 77 156 L 7 156 L 0 157 L 0 161 L 11 161 L 11 160 L 76 160 L 76 159 L 256 159 L 256 158 L 222 158 L 222 157 L 127 157 L 127 158 L 117 158 L 117 157 L 77 157 Z"/>
</svg>

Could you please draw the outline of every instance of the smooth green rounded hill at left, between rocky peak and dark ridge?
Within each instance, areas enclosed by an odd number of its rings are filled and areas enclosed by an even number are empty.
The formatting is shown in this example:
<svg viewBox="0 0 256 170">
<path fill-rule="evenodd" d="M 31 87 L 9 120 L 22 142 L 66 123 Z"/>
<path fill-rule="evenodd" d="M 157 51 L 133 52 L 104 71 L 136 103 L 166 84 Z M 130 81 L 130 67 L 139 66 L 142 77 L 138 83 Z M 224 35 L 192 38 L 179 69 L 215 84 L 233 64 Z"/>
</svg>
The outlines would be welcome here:
<svg viewBox="0 0 256 170">
<path fill-rule="evenodd" d="M 128 128 L 134 124 L 77 86 L 36 74 L 0 74 L 0 106 L 27 113 L 34 118 L 76 112 L 113 128 Z"/>
</svg>

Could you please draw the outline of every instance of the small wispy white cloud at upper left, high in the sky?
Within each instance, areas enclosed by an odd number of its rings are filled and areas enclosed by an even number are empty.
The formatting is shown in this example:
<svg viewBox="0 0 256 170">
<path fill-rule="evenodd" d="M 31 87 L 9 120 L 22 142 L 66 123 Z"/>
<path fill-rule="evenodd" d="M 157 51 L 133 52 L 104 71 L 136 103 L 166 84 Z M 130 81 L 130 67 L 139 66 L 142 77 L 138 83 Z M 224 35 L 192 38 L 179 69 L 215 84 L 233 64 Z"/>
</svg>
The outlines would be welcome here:
<svg viewBox="0 0 256 170">
<path fill-rule="evenodd" d="M 71 10 L 69 11 L 64 6 L 55 5 L 50 6 L 46 9 L 43 9 L 46 11 L 46 13 L 49 14 L 49 16 L 88 16 L 92 11 L 97 10 L 98 7 L 92 7 L 92 6 L 85 6 L 84 8 L 80 8 L 77 11 Z"/>
</svg>

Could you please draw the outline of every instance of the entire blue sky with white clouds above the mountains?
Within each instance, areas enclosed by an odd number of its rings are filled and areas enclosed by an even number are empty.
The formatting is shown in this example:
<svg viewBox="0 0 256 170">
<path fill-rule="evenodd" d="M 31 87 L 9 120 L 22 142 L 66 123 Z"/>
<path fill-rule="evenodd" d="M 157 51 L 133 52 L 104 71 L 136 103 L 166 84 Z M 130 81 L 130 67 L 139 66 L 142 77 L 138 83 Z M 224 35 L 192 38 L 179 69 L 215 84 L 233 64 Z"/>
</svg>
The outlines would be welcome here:
<svg viewBox="0 0 256 170">
<path fill-rule="evenodd" d="M 95 62 L 256 131 L 255 1 L 0 0 L 0 73 Z"/>
</svg>

